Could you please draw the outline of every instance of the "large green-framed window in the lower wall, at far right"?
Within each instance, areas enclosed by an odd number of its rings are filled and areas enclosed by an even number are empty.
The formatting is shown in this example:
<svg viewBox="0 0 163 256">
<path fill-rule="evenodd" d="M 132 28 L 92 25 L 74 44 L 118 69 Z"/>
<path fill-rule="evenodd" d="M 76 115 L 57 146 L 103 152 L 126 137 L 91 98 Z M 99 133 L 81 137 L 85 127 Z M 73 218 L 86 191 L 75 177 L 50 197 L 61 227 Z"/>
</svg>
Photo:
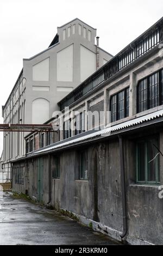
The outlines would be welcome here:
<svg viewBox="0 0 163 256">
<path fill-rule="evenodd" d="M 136 181 L 159 184 L 159 140 L 157 137 L 142 139 L 136 144 Z"/>
</svg>

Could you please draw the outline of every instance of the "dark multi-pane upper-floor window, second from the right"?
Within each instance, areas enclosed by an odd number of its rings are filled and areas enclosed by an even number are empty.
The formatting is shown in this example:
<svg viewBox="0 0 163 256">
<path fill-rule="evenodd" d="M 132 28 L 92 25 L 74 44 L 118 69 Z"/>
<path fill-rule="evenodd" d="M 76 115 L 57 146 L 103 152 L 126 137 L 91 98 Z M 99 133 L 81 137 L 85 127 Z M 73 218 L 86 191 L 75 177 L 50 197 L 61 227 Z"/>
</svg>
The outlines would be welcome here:
<svg viewBox="0 0 163 256">
<path fill-rule="evenodd" d="M 111 96 L 110 99 L 111 122 L 129 116 L 129 88 Z"/>
</svg>

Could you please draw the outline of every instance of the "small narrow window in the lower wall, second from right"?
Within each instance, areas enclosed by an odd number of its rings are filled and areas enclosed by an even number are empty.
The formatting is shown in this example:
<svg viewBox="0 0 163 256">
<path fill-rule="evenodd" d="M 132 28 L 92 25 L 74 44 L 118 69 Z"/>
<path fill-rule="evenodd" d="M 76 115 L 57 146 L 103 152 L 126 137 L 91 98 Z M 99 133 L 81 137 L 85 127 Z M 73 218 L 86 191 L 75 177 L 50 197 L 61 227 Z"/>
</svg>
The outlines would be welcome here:
<svg viewBox="0 0 163 256">
<path fill-rule="evenodd" d="M 87 180 L 87 151 L 79 153 L 79 179 Z"/>
</svg>

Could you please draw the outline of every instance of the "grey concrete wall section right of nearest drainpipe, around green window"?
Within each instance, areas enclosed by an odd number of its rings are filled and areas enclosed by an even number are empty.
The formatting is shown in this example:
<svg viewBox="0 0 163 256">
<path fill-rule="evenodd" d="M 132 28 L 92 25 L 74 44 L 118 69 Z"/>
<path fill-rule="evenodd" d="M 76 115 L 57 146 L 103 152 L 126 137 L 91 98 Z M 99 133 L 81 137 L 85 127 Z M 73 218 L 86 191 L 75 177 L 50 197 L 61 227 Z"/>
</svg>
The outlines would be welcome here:
<svg viewBox="0 0 163 256">
<path fill-rule="evenodd" d="M 151 131 L 153 135 L 155 131 Z M 145 135 L 145 134 L 144 134 Z M 146 134 L 147 135 L 147 134 Z M 145 135 L 145 136 L 146 136 Z M 160 145 L 163 142 L 162 132 Z M 127 206 L 128 206 L 128 241 L 140 244 L 148 241 L 162 245 L 163 202 L 159 199 L 158 185 L 136 184 L 136 138 L 126 141 L 126 180 L 127 180 Z M 162 146 L 160 148 L 162 151 Z M 163 157 L 160 156 L 160 184 L 163 182 Z"/>
</svg>

